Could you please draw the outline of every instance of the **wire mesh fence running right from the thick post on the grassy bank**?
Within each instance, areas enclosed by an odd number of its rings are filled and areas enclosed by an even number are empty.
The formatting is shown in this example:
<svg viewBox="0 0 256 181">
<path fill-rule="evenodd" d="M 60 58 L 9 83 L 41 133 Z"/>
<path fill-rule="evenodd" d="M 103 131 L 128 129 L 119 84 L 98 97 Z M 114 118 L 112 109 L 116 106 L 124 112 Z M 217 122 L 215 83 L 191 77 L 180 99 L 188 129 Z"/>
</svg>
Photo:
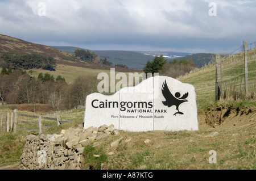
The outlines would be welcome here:
<svg viewBox="0 0 256 181">
<path fill-rule="evenodd" d="M 245 41 L 233 52 L 222 54 L 220 69 L 221 98 L 255 99 L 256 42 L 247 44 Z"/>
</svg>

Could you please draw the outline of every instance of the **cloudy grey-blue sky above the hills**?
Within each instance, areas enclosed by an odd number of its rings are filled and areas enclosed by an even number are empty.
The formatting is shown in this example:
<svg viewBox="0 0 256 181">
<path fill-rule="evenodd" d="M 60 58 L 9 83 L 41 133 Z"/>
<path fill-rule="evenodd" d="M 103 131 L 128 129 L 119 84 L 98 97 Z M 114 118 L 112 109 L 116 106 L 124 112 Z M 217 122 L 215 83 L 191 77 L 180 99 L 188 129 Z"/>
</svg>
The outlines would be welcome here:
<svg viewBox="0 0 256 181">
<path fill-rule="evenodd" d="M 254 0 L 0 0 L 0 33 L 92 50 L 230 53 L 256 41 L 255 9 Z"/>
</svg>

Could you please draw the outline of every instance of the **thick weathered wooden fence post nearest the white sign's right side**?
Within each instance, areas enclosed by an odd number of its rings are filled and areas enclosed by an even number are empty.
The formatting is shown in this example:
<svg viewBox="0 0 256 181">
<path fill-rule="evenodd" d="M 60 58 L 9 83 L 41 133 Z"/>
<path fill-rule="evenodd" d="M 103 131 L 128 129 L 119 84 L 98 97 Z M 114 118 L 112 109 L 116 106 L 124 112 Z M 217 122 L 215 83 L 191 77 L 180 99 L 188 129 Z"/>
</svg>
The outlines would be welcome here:
<svg viewBox="0 0 256 181">
<path fill-rule="evenodd" d="M 216 66 L 216 87 L 215 87 L 215 100 L 220 100 L 221 96 L 221 54 L 215 56 Z"/>
</svg>

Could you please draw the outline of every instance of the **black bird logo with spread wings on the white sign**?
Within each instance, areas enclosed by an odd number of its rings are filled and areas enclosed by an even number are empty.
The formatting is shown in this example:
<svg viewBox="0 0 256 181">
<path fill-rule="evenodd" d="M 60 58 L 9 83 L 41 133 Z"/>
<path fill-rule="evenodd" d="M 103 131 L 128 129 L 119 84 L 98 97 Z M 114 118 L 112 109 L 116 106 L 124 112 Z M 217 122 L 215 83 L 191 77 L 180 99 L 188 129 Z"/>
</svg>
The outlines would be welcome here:
<svg viewBox="0 0 256 181">
<path fill-rule="evenodd" d="M 164 106 L 176 106 L 176 110 L 178 112 L 174 113 L 174 116 L 176 116 L 176 114 L 180 114 L 180 115 L 184 115 L 183 112 L 179 111 L 179 106 L 181 103 L 184 102 L 188 102 L 188 100 L 186 100 L 186 98 L 188 97 L 188 92 L 185 93 L 183 96 L 180 97 L 180 92 L 176 92 L 175 96 L 172 95 L 172 93 L 170 92 L 166 81 L 163 83 L 162 86 L 162 94 L 164 96 L 164 98 L 166 99 L 166 101 L 162 101 L 162 103 L 164 104 Z"/>
</svg>

